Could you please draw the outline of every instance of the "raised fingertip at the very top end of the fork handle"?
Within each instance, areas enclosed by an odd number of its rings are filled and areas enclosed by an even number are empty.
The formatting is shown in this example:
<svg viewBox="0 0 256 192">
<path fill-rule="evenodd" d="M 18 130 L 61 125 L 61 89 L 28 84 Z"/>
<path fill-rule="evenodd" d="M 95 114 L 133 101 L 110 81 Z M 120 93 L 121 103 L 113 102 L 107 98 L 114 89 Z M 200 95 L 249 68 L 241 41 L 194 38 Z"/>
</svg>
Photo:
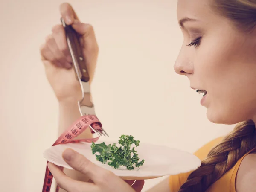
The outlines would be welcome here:
<svg viewBox="0 0 256 192">
<path fill-rule="evenodd" d="M 61 12 L 61 17 L 64 19 L 67 25 L 71 25 L 74 19 L 78 20 L 76 12 L 69 3 L 62 3 L 59 9 Z"/>
</svg>

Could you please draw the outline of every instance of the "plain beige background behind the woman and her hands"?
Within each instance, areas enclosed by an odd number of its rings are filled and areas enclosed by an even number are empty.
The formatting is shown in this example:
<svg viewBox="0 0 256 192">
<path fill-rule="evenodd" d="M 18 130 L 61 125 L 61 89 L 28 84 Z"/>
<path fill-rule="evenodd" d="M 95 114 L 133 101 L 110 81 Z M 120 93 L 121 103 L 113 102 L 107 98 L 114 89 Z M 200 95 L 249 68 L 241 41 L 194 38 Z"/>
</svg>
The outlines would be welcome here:
<svg viewBox="0 0 256 192">
<path fill-rule="evenodd" d="M 0 1 L 0 187 L 41 191 L 43 151 L 57 137 L 58 103 L 44 75 L 39 47 L 59 23 L 62 0 Z M 173 64 L 183 41 L 173 0 L 70 0 L 83 22 L 93 24 L 99 62 L 93 82 L 96 113 L 113 138 L 194 152 L 230 131 L 214 125 L 201 96 Z M 133 121 L 130 121 L 130 120 Z M 147 180 L 143 191 L 163 178 Z M 9 184 L 10 182 L 10 184 Z"/>
</svg>

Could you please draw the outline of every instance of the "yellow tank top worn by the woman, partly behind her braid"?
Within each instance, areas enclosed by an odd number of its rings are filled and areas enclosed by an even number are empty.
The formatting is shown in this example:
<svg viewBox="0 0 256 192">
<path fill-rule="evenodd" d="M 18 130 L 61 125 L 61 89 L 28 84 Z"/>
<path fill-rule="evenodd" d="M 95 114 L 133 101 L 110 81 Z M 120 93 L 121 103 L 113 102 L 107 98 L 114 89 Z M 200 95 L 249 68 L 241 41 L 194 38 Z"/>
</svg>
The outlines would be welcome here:
<svg viewBox="0 0 256 192">
<path fill-rule="evenodd" d="M 195 156 L 197 156 L 200 160 L 204 160 L 207 157 L 207 154 L 209 153 L 209 151 L 213 147 L 221 143 L 222 139 L 223 137 L 219 137 L 207 143 L 206 145 L 204 145 L 202 148 L 200 148 L 198 151 L 195 152 Z M 249 151 L 247 154 L 249 154 L 251 151 Z M 213 183 L 207 189 L 206 192 L 236 192 L 236 187 L 235 187 L 236 175 L 242 160 L 247 154 L 245 154 L 241 159 L 239 159 L 232 169 L 230 169 L 219 180 Z M 191 172 L 170 176 L 169 177 L 170 192 L 177 192 L 180 189 L 180 186 L 186 182 L 186 179 L 190 173 Z"/>
</svg>

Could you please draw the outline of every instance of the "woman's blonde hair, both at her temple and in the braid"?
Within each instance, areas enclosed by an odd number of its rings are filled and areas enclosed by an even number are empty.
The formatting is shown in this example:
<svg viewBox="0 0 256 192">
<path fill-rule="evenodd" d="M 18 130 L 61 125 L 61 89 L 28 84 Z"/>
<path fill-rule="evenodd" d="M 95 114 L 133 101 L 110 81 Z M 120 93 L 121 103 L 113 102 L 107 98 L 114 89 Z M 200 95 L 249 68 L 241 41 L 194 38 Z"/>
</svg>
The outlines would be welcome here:
<svg viewBox="0 0 256 192">
<path fill-rule="evenodd" d="M 227 17 L 241 31 L 256 27 L 256 0 L 211 0 L 212 8 Z M 212 148 L 201 166 L 193 171 L 178 192 L 204 192 L 247 152 L 256 148 L 256 128 L 252 120 L 241 122 L 220 144 Z"/>
</svg>

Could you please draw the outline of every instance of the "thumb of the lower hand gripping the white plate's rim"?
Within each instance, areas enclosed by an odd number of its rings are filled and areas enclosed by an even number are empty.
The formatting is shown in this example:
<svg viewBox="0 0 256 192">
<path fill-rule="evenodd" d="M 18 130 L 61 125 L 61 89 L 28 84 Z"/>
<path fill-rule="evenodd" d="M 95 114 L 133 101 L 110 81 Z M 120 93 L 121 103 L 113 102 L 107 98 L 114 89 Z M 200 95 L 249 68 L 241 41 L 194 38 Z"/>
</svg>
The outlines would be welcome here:
<svg viewBox="0 0 256 192">
<path fill-rule="evenodd" d="M 63 152 L 62 157 L 73 169 L 89 176 L 94 183 L 102 183 L 106 179 L 114 182 L 115 175 L 112 172 L 96 166 L 83 155 L 70 148 Z"/>
</svg>

